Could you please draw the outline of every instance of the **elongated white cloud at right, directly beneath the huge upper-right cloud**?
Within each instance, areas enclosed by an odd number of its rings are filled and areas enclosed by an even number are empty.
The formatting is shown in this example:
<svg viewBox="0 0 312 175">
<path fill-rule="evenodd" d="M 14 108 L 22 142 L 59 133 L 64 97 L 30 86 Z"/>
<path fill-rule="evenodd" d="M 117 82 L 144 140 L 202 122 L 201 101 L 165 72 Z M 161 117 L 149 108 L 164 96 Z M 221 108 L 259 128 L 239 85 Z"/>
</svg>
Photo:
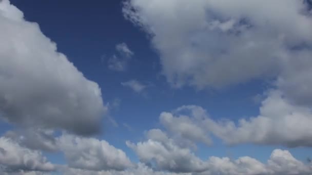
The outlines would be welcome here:
<svg viewBox="0 0 312 175">
<path fill-rule="evenodd" d="M 226 119 L 212 120 L 200 106 L 182 106 L 173 113 L 164 112 L 160 120 L 175 135 L 192 141 L 204 142 L 209 140 L 209 134 L 213 134 L 230 145 L 255 143 L 312 146 L 310 109 L 290 104 L 278 91 L 270 92 L 262 102 L 259 116 L 240 119 L 238 124 Z M 192 132 L 192 135 L 184 134 L 188 133 L 188 128 L 196 132 Z"/>
</svg>

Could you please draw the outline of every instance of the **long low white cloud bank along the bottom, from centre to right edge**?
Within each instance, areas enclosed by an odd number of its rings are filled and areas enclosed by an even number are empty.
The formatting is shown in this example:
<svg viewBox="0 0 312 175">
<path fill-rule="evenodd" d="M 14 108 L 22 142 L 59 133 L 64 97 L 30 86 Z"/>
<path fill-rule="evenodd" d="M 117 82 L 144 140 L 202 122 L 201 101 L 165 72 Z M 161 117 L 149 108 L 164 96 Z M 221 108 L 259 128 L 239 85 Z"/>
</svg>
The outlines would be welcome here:
<svg viewBox="0 0 312 175">
<path fill-rule="evenodd" d="M 176 144 L 160 129 L 151 129 L 147 140 L 136 144 L 127 141 L 140 161 L 148 167 L 162 172 L 184 172 L 193 175 L 243 175 L 243 174 L 310 174 L 312 164 L 304 164 L 295 159 L 289 151 L 275 149 L 267 163 L 251 157 L 232 160 L 228 157 L 209 157 L 201 160 L 191 149 Z"/>
</svg>

